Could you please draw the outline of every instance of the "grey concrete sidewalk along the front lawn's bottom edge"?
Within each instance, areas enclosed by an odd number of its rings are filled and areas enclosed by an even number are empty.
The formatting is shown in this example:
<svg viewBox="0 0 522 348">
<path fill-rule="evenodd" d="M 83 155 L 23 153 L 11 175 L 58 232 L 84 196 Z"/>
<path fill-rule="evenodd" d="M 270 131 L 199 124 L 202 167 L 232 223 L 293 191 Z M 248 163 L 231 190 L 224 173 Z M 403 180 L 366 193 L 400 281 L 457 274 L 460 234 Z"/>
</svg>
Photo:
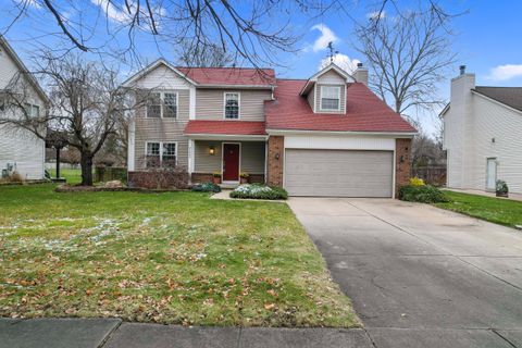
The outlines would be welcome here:
<svg viewBox="0 0 522 348">
<path fill-rule="evenodd" d="M 371 348 L 363 330 L 184 327 L 119 319 L 0 319 L 1 348 Z"/>
</svg>

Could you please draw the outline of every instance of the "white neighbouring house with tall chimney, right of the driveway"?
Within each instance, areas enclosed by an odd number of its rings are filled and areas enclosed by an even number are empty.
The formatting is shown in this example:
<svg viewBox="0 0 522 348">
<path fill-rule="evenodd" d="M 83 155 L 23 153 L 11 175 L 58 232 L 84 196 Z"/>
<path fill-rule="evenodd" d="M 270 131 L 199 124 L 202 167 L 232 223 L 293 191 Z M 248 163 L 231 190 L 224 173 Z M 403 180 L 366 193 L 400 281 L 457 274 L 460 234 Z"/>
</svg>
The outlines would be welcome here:
<svg viewBox="0 0 522 348">
<path fill-rule="evenodd" d="M 448 187 L 493 191 L 502 179 L 522 194 L 522 87 L 475 86 L 461 66 L 440 116 Z"/>
</svg>

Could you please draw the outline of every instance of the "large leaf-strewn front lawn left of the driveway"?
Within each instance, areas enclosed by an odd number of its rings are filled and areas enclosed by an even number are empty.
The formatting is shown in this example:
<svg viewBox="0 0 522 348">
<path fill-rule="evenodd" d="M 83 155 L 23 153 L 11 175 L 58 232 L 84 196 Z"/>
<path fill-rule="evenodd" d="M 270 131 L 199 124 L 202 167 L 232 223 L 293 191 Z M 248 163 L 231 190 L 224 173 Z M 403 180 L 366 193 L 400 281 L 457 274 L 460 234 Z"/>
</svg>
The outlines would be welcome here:
<svg viewBox="0 0 522 348">
<path fill-rule="evenodd" d="M 0 187 L 0 316 L 359 325 L 284 203 Z"/>
</svg>

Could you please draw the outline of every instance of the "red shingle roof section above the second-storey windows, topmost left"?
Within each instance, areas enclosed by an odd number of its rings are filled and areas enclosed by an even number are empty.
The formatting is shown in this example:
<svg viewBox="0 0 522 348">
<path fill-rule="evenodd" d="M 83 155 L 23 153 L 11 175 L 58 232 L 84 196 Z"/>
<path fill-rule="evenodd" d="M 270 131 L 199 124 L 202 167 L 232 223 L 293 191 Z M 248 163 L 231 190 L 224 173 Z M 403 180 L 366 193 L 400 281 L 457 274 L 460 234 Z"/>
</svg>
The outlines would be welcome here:
<svg viewBox="0 0 522 348">
<path fill-rule="evenodd" d="M 273 69 L 249 67 L 176 67 L 201 85 L 268 86 L 275 84 Z"/>
</svg>

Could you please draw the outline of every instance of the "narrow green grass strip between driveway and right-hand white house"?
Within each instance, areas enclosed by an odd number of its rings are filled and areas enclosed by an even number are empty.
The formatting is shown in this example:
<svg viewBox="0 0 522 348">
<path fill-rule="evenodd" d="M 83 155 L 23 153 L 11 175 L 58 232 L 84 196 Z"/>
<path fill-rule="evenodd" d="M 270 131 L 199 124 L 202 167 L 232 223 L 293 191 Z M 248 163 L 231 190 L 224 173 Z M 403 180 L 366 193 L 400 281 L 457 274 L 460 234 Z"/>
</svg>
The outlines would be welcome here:
<svg viewBox="0 0 522 348">
<path fill-rule="evenodd" d="M 522 202 L 446 190 L 451 199 L 435 206 L 506 226 L 522 225 Z"/>
</svg>

